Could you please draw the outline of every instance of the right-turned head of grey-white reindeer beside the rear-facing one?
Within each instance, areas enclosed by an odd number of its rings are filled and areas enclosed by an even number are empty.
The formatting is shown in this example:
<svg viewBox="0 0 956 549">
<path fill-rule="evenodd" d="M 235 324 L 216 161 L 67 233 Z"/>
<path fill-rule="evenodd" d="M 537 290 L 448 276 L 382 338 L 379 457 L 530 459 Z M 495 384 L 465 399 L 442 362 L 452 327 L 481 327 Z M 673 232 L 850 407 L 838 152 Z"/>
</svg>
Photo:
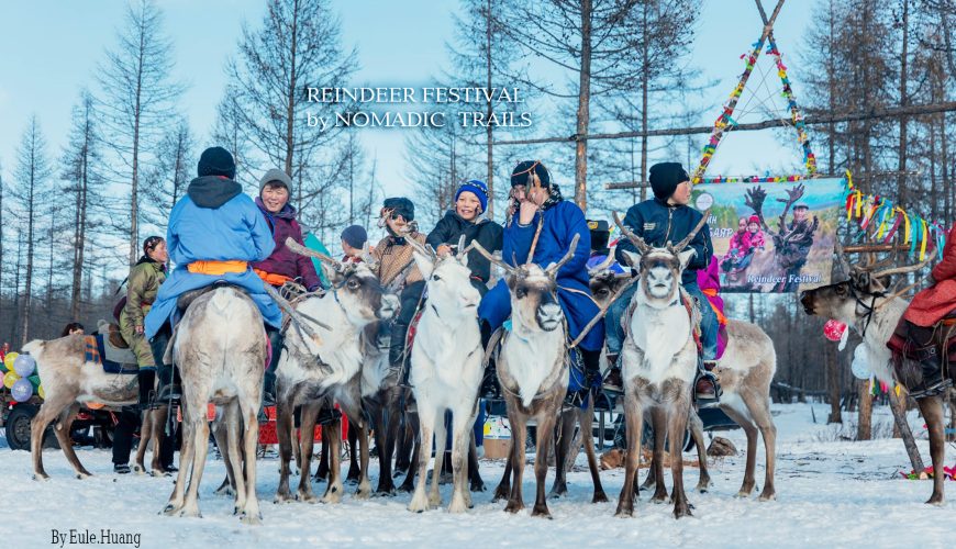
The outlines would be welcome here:
<svg viewBox="0 0 956 549">
<path fill-rule="evenodd" d="M 296 254 L 322 261 L 335 300 L 356 327 L 364 327 L 376 320 L 389 320 L 394 315 L 398 298 L 383 293 L 378 277 L 365 264 L 338 262 L 325 254 L 301 246 L 292 238 L 286 239 L 286 246 Z"/>
</svg>

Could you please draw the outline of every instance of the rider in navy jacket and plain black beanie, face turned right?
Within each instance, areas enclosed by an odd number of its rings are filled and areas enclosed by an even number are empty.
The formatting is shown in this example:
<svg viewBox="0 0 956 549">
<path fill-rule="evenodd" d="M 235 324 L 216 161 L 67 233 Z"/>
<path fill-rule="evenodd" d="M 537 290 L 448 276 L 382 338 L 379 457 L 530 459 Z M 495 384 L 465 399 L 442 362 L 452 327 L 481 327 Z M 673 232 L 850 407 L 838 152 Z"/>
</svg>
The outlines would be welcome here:
<svg viewBox="0 0 956 549">
<path fill-rule="evenodd" d="M 690 202 L 690 177 L 678 163 L 660 163 L 651 167 L 648 179 L 654 198 L 631 206 L 624 216 L 624 226 L 654 247 L 663 247 L 668 242 L 682 240 L 693 231 L 703 215 L 687 205 Z M 713 309 L 708 306 L 708 300 L 697 284 L 697 271 L 707 269 L 713 256 L 713 245 L 708 225 L 704 225 L 690 240 L 690 247 L 696 254 L 683 270 L 680 282 L 683 289 L 697 300 L 701 312 L 700 330 L 703 357 L 696 391 L 698 405 L 708 407 L 715 405 L 719 397 L 716 378 L 710 373 L 710 370 L 714 367 L 720 328 L 716 314 Z M 615 256 L 621 265 L 627 265 L 624 251 L 637 251 L 634 244 L 627 238 L 621 238 L 618 243 Z M 632 272 L 636 274 L 636 271 L 632 270 Z M 608 391 L 622 390 L 621 370 L 616 363 L 624 344 L 621 317 L 624 316 L 636 290 L 637 284 L 632 284 L 611 304 L 604 318 L 608 333 L 608 362 L 611 366 L 604 380 L 604 389 Z"/>
</svg>

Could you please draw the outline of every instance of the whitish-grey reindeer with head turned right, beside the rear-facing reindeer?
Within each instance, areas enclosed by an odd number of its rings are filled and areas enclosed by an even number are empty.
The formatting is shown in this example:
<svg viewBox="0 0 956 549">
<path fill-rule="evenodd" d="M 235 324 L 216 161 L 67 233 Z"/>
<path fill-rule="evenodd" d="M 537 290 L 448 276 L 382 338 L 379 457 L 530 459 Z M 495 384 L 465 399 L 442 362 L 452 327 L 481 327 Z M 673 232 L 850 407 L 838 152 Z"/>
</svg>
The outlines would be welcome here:
<svg viewBox="0 0 956 549">
<path fill-rule="evenodd" d="M 281 460 L 279 488 L 276 502 L 291 500 L 289 493 L 289 461 L 292 457 L 292 413 L 302 406 L 301 433 L 312 433 L 319 405 L 323 399 L 338 403 L 342 411 L 353 421 L 351 424 L 360 429 L 363 478 L 356 495 L 365 498 L 371 495 L 368 480 L 367 425 L 362 414 L 360 369 L 363 349 L 359 334 L 376 320 L 390 318 L 398 306 L 393 295 L 383 295 L 381 284 L 364 264 L 340 264 L 331 257 L 300 246 L 291 238 L 286 245 L 297 254 L 318 258 L 326 268 L 332 280 L 332 291 L 323 294 L 307 294 L 294 306 L 285 304 L 297 329 L 289 329 L 286 350 L 279 359 L 277 369 L 277 432 Z M 280 302 L 281 304 L 281 302 Z M 321 340 L 308 338 L 301 327 L 322 328 Z M 334 429 L 334 426 L 327 428 Z M 340 471 L 340 437 L 329 437 L 330 479 L 322 501 L 337 503 L 342 498 L 343 483 Z M 312 437 L 301 436 L 300 479 L 297 498 L 314 502 L 310 482 L 312 458 Z"/>
</svg>

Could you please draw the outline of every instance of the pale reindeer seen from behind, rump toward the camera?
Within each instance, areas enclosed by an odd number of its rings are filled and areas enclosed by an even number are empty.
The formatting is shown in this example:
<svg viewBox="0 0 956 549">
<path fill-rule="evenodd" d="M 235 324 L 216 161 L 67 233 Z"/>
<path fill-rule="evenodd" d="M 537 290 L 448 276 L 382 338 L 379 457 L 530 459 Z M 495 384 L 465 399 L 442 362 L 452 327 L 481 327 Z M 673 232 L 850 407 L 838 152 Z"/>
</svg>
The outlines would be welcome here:
<svg viewBox="0 0 956 549">
<path fill-rule="evenodd" d="M 263 391 L 266 333 L 258 307 L 240 289 L 220 285 L 194 298 L 176 328 L 167 360 L 182 377 L 182 449 L 167 515 L 201 516 L 199 484 L 209 451 L 207 405 L 223 407 L 229 467 L 235 474 L 234 514 L 246 524 L 262 520 L 256 496 L 256 412 Z M 242 430 L 243 444 L 238 437 Z M 190 474 L 187 491 L 187 474 Z"/>
</svg>

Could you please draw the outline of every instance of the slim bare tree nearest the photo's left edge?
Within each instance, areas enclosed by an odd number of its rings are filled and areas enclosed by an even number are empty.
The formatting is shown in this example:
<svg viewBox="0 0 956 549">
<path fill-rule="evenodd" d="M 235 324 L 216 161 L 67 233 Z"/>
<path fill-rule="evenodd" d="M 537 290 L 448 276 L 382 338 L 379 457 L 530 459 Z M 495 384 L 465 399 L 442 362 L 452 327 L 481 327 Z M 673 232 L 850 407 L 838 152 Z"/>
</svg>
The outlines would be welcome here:
<svg viewBox="0 0 956 549">
<path fill-rule="evenodd" d="M 13 194 L 19 202 L 20 214 L 26 225 L 22 236 L 26 242 L 26 268 L 24 271 L 23 302 L 20 311 L 21 345 L 30 340 L 30 318 L 34 285 L 35 249 L 37 235 L 43 234 L 40 224 L 43 220 L 46 200 L 49 197 L 47 187 L 53 171 L 46 157 L 46 139 L 40 130 L 36 115 L 30 117 L 26 131 L 16 152 L 16 192 Z"/>
</svg>

